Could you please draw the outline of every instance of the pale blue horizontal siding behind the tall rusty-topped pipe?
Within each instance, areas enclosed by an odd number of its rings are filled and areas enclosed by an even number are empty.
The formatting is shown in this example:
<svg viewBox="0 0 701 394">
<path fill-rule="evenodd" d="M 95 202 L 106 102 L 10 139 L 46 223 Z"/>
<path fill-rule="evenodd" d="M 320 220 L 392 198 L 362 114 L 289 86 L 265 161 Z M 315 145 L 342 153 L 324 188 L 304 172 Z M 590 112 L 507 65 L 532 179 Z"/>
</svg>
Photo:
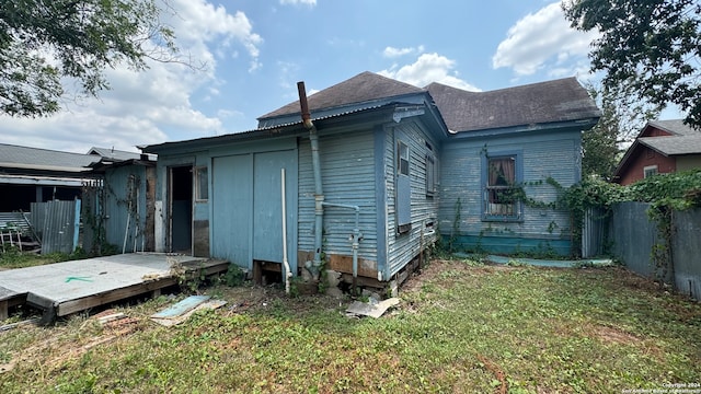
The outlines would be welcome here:
<svg viewBox="0 0 701 394">
<path fill-rule="evenodd" d="M 321 136 L 319 152 L 324 200 L 360 207 L 363 241 L 358 257 L 377 262 L 375 152 L 372 130 Z M 309 138 L 299 139 L 299 250 L 314 250 L 314 174 Z M 323 248 L 327 254 L 350 256 L 349 235 L 355 227 L 352 209 L 325 207 Z M 303 262 L 300 262 L 303 264 Z"/>
</svg>

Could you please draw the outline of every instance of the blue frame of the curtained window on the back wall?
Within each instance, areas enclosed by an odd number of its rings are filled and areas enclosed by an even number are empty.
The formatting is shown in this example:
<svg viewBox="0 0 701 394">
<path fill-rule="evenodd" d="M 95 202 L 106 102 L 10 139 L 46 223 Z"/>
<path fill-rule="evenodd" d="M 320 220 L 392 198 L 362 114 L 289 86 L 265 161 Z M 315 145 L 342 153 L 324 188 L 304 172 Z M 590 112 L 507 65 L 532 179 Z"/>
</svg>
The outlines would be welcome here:
<svg viewBox="0 0 701 394">
<path fill-rule="evenodd" d="M 514 184 L 510 186 L 494 186 L 490 185 L 490 163 L 492 160 L 512 159 L 514 161 Z M 524 221 L 524 201 L 517 199 L 513 202 L 513 213 L 491 213 L 490 205 L 496 202 L 490 202 L 491 190 L 497 189 L 516 189 L 524 182 L 524 163 L 522 151 L 497 151 L 490 152 L 489 155 L 482 155 L 482 221 L 508 221 L 508 222 L 521 222 Z"/>
</svg>

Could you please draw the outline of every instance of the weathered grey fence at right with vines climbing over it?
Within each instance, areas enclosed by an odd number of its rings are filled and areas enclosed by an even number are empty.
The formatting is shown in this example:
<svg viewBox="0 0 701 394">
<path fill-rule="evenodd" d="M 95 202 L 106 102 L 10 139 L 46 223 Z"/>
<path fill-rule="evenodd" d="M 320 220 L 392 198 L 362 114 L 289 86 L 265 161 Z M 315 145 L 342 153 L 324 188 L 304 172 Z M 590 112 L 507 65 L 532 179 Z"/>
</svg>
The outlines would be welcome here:
<svg viewBox="0 0 701 394">
<path fill-rule="evenodd" d="M 647 216 L 648 208 L 646 202 L 617 204 L 608 223 L 600 219 L 597 223 L 593 215 L 588 225 L 598 225 L 599 232 L 607 230 L 608 236 L 600 236 L 598 245 L 593 242 L 588 247 L 602 250 L 602 243 L 608 243 L 611 254 L 632 271 L 662 279 L 679 293 L 701 300 L 701 209 L 671 212 L 671 237 L 666 245 L 657 223 Z M 663 265 L 653 258 L 660 250 L 666 254 Z"/>
</svg>

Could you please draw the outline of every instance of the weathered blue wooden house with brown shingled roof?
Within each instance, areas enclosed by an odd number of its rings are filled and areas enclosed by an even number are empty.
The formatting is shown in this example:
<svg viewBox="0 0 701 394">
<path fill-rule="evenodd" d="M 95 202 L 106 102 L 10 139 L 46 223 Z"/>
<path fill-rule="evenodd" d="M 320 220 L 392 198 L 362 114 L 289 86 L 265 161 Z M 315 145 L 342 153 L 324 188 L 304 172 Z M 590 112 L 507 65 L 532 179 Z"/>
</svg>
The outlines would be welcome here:
<svg viewBox="0 0 701 394">
<path fill-rule="evenodd" d="M 464 246 L 497 225 L 510 229 L 493 234 L 505 244 L 565 245 L 548 231 L 568 225 L 564 212 L 508 206 L 497 188 L 578 181 L 581 132 L 597 117 L 574 79 L 472 93 L 363 72 L 308 100 L 302 90 L 255 130 L 143 148 L 159 157 L 156 250 L 227 258 L 254 275 L 324 264 L 384 286 L 451 230 Z"/>
</svg>

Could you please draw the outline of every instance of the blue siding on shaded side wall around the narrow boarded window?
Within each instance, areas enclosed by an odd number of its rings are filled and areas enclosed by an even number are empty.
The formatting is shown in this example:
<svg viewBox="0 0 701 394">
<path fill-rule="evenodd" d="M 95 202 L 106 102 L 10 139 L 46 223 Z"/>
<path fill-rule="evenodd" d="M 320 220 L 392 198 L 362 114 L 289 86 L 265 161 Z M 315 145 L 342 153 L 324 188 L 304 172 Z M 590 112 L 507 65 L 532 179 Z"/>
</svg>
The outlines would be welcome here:
<svg viewBox="0 0 701 394">
<path fill-rule="evenodd" d="M 411 177 L 411 217 L 412 228 L 409 233 L 397 233 L 395 211 L 395 147 L 397 139 L 402 139 L 409 144 L 410 150 L 410 177 Z M 427 233 L 426 224 L 433 221 L 437 224 L 439 194 L 428 198 L 426 196 L 426 163 L 425 157 L 429 152 L 428 142 L 433 147 L 436 165 L 440 167 L 438 158 L 438 143 L 428 137 L 421 124 L 404 120 L 401 124 L 388 128 L 384 141 L 384 182 L 387 189 L 387 259 L 384 278 L 388 280 L 411 262 L 421 251 L 422 232 L 424 232 L 424 245 L 433 243 L 435 233 Z"/>
</svg>

